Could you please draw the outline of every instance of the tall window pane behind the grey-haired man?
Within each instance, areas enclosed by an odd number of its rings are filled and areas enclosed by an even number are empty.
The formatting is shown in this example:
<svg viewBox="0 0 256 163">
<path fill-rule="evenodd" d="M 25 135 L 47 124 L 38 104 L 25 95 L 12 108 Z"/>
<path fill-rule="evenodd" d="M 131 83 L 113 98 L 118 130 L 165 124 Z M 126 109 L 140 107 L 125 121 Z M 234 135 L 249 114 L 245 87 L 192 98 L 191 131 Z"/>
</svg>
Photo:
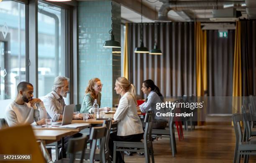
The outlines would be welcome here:
<svg viewBox="0 0 256 163">
<path fill-rule="evenodd" d="M 38 96 L 51 92 L 54 78 L 65 76 L 65 10 L 38 3 Z"/>
</svg>

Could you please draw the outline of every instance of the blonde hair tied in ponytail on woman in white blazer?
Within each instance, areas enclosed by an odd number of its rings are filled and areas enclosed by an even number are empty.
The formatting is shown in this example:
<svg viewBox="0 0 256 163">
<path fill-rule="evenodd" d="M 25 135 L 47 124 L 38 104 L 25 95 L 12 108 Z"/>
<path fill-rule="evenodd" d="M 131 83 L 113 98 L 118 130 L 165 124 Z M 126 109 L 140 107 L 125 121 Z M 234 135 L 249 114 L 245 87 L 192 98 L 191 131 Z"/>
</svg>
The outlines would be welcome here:
<svg viewBox="0 0 256 163">
<path fill-rule="evenodd" d="M 125 77 L 119 77 L 116 79 L 118 85 L 123 87 L 123 89 L 127 92 L 129 91 L 131 95 L 133 96 L 134 102 L 137 104 L 137 98 L 136 98 L 136 88 L 133 84 L 130 83 L 128 79 Z"/>
</svg>

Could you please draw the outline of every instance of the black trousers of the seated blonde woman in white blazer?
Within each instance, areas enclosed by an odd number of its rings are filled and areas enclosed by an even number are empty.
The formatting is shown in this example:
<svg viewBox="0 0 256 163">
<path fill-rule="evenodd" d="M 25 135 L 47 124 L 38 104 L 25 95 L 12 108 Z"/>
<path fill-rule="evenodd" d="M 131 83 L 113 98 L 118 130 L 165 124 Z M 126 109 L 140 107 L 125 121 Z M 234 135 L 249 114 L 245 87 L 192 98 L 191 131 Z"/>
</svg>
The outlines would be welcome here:
<svg viewBox="0 0 256 163">
<path fill-rule="evenodd" d="M 128 135 L 128 136 L 118 136 L 117 132 L 111 133 L 110 134 L 110 139 L 109 139 L 109 142 L 108 142 L 108 147 L 110 149 L 111 157 L 113 158 L 114 141 L 131 141 L 131 142 L 141 141 L 141 139 L 143 138 L 143 134 L 144 133 L 139 133 L 139 134 L 135 134 L 135 135 Z M 123 163 L 124 162 L 120 151 L 116 152 L 116 160 L 117 160 L 117 163 Z"/>
</svg>

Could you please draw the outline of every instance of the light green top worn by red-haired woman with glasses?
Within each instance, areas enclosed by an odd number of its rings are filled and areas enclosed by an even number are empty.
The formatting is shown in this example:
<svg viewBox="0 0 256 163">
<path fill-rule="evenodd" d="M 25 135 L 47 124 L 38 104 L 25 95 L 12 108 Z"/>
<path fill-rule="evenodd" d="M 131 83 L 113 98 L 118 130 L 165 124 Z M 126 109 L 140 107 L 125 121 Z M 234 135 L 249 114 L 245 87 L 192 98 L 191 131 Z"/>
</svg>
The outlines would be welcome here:
<svg viewBox="0 0 256 163">
<path fill-rule="evenodd" d="M 98 93 L 97 103 L 100 107 L 101 93 Z M 91 96 L 91 93 L 87 93 L 84 95 L 84 100 L 81 106 L 80 113 L 90 113 L 92 114 L 92 105 L 94 103 L 94 99 Z"/>
</svg>

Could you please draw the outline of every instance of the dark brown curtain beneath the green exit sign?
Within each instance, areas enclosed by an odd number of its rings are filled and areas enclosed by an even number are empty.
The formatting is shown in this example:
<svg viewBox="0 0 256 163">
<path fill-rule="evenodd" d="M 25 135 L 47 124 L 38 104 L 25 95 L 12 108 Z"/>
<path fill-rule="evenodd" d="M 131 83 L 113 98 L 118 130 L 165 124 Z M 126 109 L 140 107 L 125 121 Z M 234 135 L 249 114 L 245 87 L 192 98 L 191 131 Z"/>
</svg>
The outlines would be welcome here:
<svg viewBox="0 0 256 163">
<path fill-rule="evenodd" d="M 223 96 L 233 93 L 233 59 L 235 30 L 228 30 L 228 38 L 219 38 L 218 30 L 207 30 L 207 83 L 209 114 L 231 114 L 232 100 Z"/>
</svg>

